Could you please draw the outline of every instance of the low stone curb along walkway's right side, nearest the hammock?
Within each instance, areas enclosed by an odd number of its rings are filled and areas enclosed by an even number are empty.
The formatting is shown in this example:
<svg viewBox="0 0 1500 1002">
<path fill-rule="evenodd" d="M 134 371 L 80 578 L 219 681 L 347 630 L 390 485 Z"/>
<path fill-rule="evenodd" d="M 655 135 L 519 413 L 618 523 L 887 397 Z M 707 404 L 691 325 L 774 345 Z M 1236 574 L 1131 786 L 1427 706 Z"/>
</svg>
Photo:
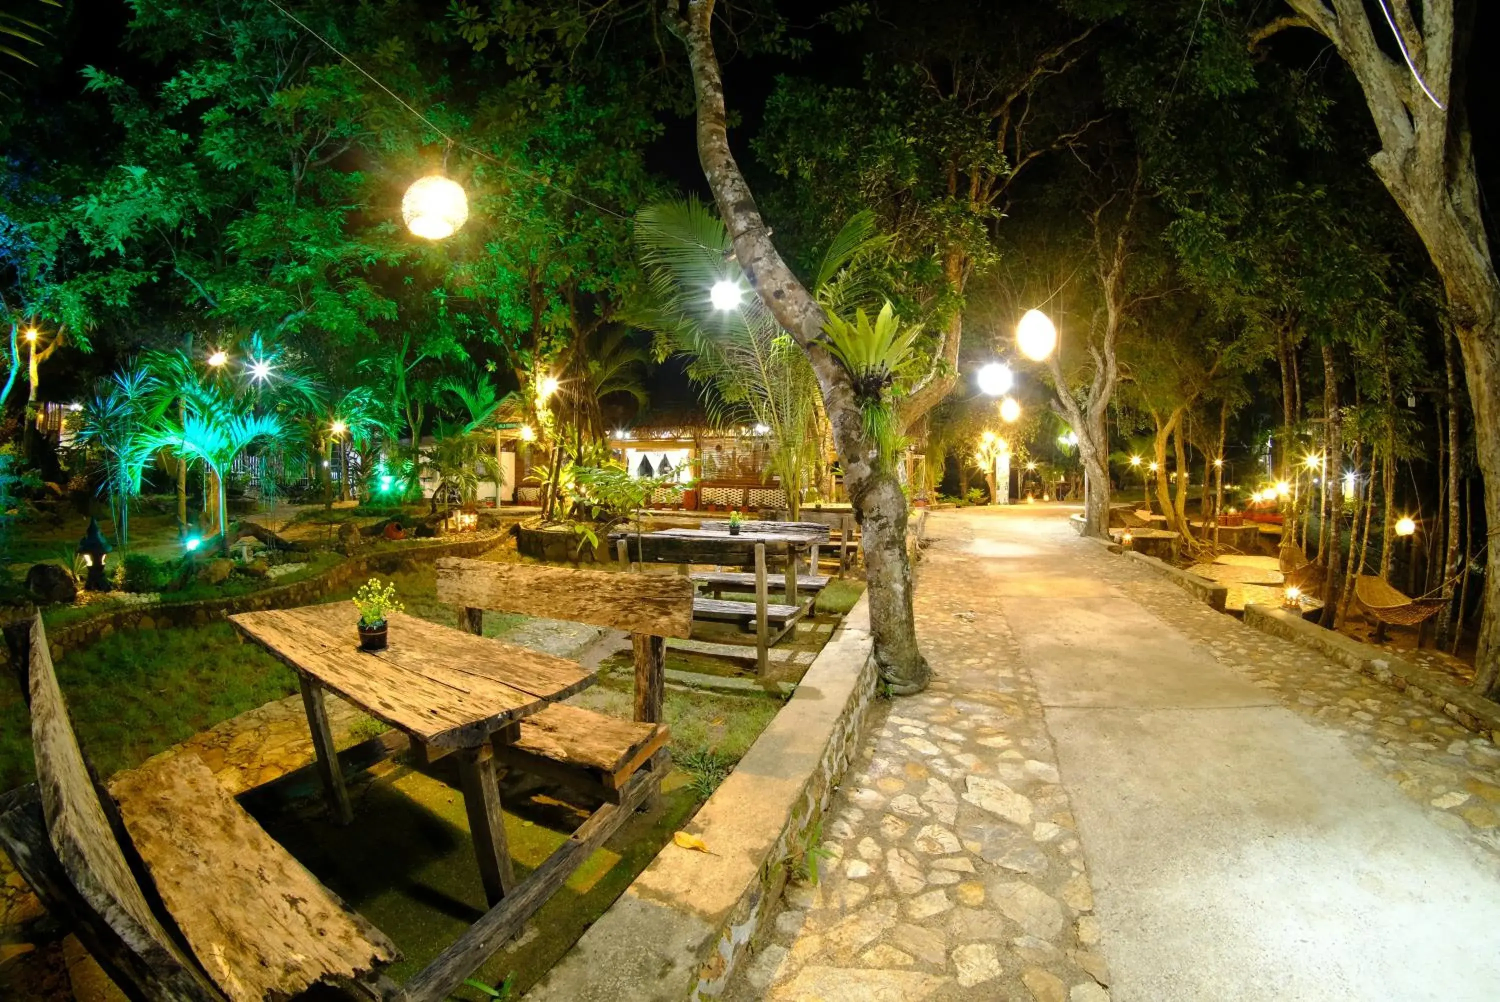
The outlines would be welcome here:
<svg viewBox="0 0 1500 1002">
<path fill-rule="evenodd" d="M 1476 696 L 1436 672 L 1324 630 L 1284 609 L 1248 604 L 1245 626 L 1312 648 L 1340 664 L 1404 692 L 1416 702 L 1432 706 L 1444 717 L 1500 744 L 1500 704 Z"/>
</svg>

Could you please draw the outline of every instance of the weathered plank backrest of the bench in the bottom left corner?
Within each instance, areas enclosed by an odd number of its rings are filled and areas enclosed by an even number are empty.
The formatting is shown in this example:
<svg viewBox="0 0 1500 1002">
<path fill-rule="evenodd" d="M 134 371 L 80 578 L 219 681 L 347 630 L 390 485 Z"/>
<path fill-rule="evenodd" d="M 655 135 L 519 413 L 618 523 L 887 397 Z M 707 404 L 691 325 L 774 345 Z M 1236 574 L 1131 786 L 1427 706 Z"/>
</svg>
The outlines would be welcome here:
<svg viewBox="0 0 1500 1002">
<path fill-rule="evenodd" d="M 87 927 L 84 942 L 104 951 L 100 962 L 124 976 L 120 987 L 134 998 L 219 999 L 162 928 L 116 840 L 68 720 L 42 618 L 8 627 L 6 640 L 10 663 L 27 676 L 42 814 L 57 864 L 78 892 L 72 904 L 80 928 Z"/>
</svg>

